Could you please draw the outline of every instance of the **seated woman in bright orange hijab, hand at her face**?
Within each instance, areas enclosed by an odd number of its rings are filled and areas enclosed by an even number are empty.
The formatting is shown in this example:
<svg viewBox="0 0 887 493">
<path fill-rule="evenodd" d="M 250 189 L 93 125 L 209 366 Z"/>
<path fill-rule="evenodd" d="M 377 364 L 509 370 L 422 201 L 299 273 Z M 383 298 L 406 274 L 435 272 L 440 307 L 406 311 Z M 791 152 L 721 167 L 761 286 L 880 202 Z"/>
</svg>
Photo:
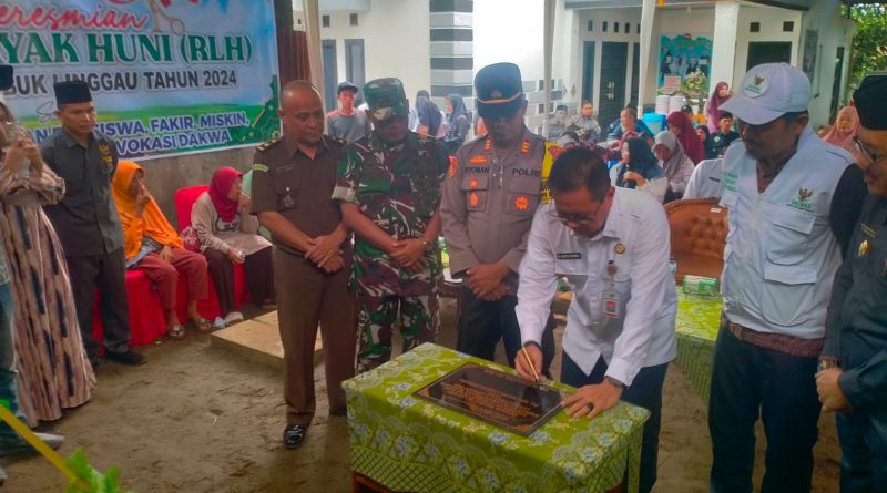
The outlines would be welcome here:
<svg viewBox="0 0 887 493">
<path fill-rule="evenodd" d="M 180 340 L 185 329 L 175 315 L 175 288 L 179 274 L 187 278 L 187 314 L 201 332 L 212 330 L 208 320 L 197 312 L 197 300 L 206 299 L 208 285 L 206 259 L 183 248 L 182 239 L 160 210 L 144 183 L 144 171 L 132 161 L 121 161 L 111 192 L 123 226 L 126 268 L 141 269 L 157 285 L 157 294 L 166 314 L 166 333 Z"/>
</svg>

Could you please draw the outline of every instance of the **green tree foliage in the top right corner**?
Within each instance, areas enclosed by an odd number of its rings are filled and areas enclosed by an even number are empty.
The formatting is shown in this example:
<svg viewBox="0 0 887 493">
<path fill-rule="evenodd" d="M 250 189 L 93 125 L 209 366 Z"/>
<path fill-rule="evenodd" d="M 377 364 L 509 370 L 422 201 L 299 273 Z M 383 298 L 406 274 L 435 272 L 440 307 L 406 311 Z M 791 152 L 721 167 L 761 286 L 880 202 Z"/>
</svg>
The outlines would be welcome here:
<svg viewBox="0 0 887 493">
<path fill-rule="evenodd" d="M 861 3 L 850 7 L 856 34 L 850 53 L 850 88 L 859 86 L 874 70 L 887 70 L 887 6 Z"/>
</svg>

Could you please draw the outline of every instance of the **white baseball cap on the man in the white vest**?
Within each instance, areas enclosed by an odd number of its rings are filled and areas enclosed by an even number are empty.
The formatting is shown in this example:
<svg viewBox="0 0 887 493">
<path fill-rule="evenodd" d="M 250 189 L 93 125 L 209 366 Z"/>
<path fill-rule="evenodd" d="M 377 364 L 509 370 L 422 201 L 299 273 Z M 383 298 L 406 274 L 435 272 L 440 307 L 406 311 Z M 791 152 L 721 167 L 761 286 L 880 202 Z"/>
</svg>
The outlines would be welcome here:
<svg viewBox="0 0 887 493">
<path fill-rule="evenodd" d="M 736 93 L 721 111 L 752 125 L 763 125 L 786 113 L 807 111 L 810 81 L 788 63 L 764 63 L 752 68 Z"/>
</svg>

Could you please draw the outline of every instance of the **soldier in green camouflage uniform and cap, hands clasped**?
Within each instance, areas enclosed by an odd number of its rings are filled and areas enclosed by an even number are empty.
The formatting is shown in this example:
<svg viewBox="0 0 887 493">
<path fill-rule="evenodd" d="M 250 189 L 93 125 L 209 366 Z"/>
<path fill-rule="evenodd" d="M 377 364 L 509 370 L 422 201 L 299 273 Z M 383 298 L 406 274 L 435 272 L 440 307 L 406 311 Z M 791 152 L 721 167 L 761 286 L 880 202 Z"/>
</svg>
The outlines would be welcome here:
<svg viewBox="0 0 887 493">
<path fill-rule="evenodd" d="M 374 131 L 345 147 L 333 192 L 357 234 L 351 273 L 358 297 L 357 372 L 390 359 L 396 323 L 404 351 L 437 335 L 437 210 L 449 163 L 438 141 L 409 131 L 399 80 L 370 81 L 364 96 Z"/>
</svg>

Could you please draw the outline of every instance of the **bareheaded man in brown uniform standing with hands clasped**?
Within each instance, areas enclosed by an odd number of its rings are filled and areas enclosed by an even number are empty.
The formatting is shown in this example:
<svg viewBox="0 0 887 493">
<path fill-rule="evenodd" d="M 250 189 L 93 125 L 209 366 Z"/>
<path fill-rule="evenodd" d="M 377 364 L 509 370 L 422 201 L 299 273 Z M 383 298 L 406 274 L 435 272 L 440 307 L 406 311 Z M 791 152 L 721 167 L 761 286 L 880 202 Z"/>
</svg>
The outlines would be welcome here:
<svg viewBox="0 0 887 493">
<path fill-rule="evenodd" d="M 345 142 L 324 135 L 324 107 L 306 81 L 284 85 L 284 136 L 257 147 L 252 212 L 272 234 L 277 319 L 284 346 L 284 445 L 299 446 L 314 418 L 314 343 L 324 341 L 329 413 L 344 415 L 341 382 L 354 376 L 350 237 L 329 199 Z"/>
</svg>

